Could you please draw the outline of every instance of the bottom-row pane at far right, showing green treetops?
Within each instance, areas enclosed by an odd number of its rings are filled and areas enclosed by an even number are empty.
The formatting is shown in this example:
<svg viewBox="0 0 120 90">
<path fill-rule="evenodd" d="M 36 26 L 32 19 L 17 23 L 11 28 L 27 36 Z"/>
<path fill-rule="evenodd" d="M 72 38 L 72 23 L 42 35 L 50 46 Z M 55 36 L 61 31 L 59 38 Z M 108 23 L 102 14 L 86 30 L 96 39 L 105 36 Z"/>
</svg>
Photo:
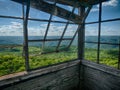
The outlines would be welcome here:
<svg viewBox="0 0 120 90">
<path fill-rule="evenodd" d="M 117 45 L 101 44 L 100 63 L 108 66 L 118 67 L 119 47 Z"/>
</svg>

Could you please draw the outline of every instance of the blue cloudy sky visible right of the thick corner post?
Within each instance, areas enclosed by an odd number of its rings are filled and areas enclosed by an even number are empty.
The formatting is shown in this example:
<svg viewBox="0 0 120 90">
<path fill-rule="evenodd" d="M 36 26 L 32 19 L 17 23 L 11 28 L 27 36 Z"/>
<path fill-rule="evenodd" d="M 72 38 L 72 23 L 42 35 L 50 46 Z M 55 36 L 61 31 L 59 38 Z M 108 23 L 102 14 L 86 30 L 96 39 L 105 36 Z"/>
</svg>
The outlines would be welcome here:
<svg viewBox="0 0 120 90">
<path fill-rule="evenodd" d="M 95 5 L 86 22 L 98 21 L 98 8 L 99 5 Z M 120 18 L 120 0 L 110 0 L 103 3 L 102 7 L 102 20 Z M 119 35 L 120 36 L 120 21 L 102 23 L 101 35 Z M 98 24 L 86 25 L 86 33 L 89 36 L 98 34 Z"/>
</svg>

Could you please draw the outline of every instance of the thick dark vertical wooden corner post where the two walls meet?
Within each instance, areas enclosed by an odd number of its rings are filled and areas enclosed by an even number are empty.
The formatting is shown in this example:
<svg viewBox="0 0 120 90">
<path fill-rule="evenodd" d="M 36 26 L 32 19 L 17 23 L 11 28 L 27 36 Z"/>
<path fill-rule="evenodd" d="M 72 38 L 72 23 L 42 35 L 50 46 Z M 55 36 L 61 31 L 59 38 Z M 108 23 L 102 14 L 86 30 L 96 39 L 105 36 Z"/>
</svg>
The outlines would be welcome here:
<svg viewBox="0 0 120 90">
<path fill-rule="evenodd" d="M 83 68 L 81 66 L 82 60 L 84 59 L 84 42 L 85 42 L 85 7 L 78 8 L 79 16 L 82 17 L 82 24 L 79 24 L 78 27 L 78 59 L 80 60 L 79 64 L 79 90 L 83 89 Z"/>
</svg>

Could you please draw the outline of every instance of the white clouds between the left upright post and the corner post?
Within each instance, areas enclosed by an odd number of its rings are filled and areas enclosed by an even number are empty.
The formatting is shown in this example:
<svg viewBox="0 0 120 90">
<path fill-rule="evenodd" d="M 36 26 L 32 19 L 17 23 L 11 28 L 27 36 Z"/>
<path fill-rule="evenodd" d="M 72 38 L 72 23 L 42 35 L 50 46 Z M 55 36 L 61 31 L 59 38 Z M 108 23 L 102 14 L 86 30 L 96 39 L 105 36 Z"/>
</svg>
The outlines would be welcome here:
<svg viewBox="0 0 120 90">
<path fill-rule="evenodd" d="M 29 35 L 30 36 L 44 36 L 46 31 L 46 24 L 41 24 L 40 27 L 29 27 Z M 51 24 L 48 30 L 47 36 L 61 36 L 63 33 L 65 26 L 64 25 L 56 25 Z M 68 26 L 68 29 L 65 32 L 66 36 L 71 36 L 75 33 L 77 27 L 75 25 Z"/>
</svg>

